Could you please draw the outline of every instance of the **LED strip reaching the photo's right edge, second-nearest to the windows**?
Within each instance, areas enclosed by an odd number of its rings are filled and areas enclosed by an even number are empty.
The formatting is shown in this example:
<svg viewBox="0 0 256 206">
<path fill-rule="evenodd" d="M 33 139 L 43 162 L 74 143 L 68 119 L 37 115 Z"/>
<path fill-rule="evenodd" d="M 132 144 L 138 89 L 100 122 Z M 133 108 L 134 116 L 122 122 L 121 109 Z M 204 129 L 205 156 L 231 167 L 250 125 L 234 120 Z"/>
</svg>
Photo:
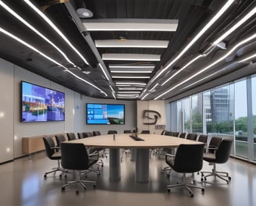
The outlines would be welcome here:
<svg viewBox="0 0 256 206">
<path fill-rule="evenodd" d="M 204 71 L 210 69 L 212 66 L 215 66 L 215 64 L 219 63 L 220 61 L 222 61 L 223 59 L 225 59 L 228 55 L 230 55 L 233 51 L 236 50 L 236 48 L 240 47 L 240 45 L 247 43 L 247 41 L 251 41 L 252 39 L 254 39 L 256 37 L 256 34 L 252 35 L 251 37 L 246 38 L 243 41 L 240 41 L 240 43 L 236 44 L 232 49 L 230 49 L 229 52 L 226 53 L 226 55 L 223 55 L 221 58 L 219 58 L 218 60 L 216 60 L 215 62 L 213 62 L 212 64 L 204 67 L 204 69 L 201 69 L 199 72 L 195 73 L 194 75 L 188 77 L 186 80 L 183 80 L 182 82 L 176 84 L 174 87 L 170 88 L 168 91 L 165 91 L 164 93 L 158 95 L 158 97 L 156 97 L 154 100 L 157 100 L 158 98 L 161 98 L 163 95 L 169 93 L 170 91 L 174 90 L 176 87 L 180 87 L 180 85 L 182 85 L 183 83 L 186 83 L 187 81 L 193 79 L 195 76 L 197 76 L 198 74 L 203 73 Z"/>
</svg>

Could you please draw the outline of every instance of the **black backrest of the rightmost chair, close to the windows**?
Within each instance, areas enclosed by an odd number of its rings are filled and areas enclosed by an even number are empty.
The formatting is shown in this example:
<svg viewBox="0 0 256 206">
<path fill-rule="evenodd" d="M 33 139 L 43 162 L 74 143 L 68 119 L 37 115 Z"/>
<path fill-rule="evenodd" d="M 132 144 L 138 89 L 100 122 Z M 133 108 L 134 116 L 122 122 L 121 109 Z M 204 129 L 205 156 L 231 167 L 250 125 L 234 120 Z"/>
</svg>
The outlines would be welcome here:
<svg viewBox="0 0 256 206">
<path fill-rule="evenodd" d="M 218 149 L 215 151 L 215 163 L 225 163 L 229 160 L 232 144 L 232 139 L 222 140 L 222 142 L 219 144 Z"/>
</svg>

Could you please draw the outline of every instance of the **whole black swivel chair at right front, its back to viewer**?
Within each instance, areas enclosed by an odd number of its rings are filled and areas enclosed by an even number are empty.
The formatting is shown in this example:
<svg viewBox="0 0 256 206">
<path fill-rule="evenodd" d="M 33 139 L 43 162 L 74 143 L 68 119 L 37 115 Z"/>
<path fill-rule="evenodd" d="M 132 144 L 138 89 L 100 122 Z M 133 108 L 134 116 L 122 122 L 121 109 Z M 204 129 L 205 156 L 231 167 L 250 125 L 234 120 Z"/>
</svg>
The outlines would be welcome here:
<svg viewBox="0 0 256 206">
<path fill-rule="evenodd" d="M 203 153 L 204 144 L 180 144 L 175 156 L 170 154 L 165 155 L 165 162 L 174 171 L 183 173 L 183 183 L 167 185 L 168 191 L 170 191 L 172 187 L 183 186 L 189 190 L 190 197 L 194 197 L 190 187 L 199 188 L 201 192 L 204 193 L 204 187 L 186 183 L 186 173 L 198 172 L 202 169 Z"/>
</svg>

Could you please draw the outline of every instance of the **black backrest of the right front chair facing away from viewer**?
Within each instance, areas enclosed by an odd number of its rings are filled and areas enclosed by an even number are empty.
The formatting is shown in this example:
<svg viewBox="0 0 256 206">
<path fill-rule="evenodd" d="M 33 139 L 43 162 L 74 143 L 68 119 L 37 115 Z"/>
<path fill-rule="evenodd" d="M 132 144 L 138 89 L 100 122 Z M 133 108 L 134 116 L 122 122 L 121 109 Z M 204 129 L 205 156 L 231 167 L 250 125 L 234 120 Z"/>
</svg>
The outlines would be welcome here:
<svg viewBox="0 0 256 206">
<path fill-rule="evenodd" d="M 198 172 L 203 167 L 204 144 L 180 144 L 172 169 L 176 172 Z"/>
</svg>

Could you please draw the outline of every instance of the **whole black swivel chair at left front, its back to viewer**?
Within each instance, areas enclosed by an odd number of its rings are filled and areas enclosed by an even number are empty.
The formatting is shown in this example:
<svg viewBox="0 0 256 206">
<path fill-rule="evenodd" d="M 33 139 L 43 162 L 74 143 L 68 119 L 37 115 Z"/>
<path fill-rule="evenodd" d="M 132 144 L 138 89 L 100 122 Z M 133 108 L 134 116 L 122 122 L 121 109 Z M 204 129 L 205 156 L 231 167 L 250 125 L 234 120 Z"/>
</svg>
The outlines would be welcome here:
<svg viewBox="0 0 256 206">
<path fill-rule="evenodd" d="M 98 154 L 88 155 L 87 148 L 84 144 L 78 143 L 61 143 L 60 144 L 62 153 L 62 167 L 64 169 L 74 170 L 76 173 L 76 180 L 66 183 L 62 186 L 62 191 L 66 190 L 66 186 L 78 184 L 84 187 L 86 190 L 86 183 L 93 183 L 96 186 L 95 181 L 82 180 L 81 176 L 83 172 L 90 172 L 90 168 L 96 162 L 98 162 Z M 76 194 L 79 190 L 76 190 Z"/>
</svg>

